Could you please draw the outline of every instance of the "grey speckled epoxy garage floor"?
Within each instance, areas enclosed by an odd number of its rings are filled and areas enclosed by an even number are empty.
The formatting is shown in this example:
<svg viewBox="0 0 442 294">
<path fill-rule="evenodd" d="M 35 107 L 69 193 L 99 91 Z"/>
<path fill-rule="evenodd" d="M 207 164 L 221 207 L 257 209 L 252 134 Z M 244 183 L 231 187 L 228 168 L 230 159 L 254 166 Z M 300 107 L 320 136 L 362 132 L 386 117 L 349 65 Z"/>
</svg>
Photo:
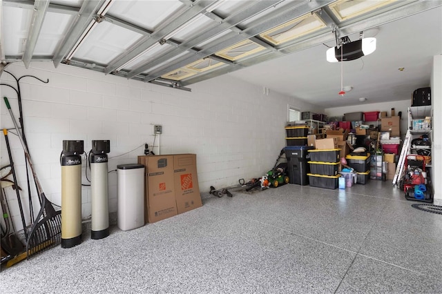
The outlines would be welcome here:
<svg viewBox="0 0 442 294">
<path fill-rule="evenodd" d="M 442 293 L 442 215 L 390 182 L 285 185 L 105 239 L 52 248 L 0 273 L 0 293 Z"/>
</svg>

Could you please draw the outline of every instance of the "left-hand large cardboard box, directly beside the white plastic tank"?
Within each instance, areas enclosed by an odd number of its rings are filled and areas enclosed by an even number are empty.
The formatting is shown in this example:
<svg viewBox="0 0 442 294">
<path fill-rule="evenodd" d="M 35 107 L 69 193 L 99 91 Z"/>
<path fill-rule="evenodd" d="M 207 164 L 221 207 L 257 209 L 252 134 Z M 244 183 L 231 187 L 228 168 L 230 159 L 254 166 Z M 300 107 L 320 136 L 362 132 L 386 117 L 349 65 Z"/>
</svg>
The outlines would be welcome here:
<svg viewBox="0 0 442 294">
<path fill-rule="evenodd" d="M 144 164 L 144 222 L 158 222 L 177 215 L 173 155 L 139 156 L 138 163 Z"/>
</svg>

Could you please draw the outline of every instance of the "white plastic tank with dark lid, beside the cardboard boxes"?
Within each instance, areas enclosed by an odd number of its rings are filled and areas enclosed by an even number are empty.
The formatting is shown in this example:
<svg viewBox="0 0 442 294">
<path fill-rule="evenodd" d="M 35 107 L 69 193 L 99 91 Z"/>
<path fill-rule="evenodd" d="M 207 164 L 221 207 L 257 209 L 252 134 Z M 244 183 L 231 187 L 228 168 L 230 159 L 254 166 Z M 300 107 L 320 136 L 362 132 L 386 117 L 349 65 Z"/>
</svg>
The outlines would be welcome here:
<svg viewBox="0 0 442 294">
<path fill-rule="evenodd" d="M 120 164 L 117 226 L 123 231 L 144 226 L 144 165 Z"/>
</svg>

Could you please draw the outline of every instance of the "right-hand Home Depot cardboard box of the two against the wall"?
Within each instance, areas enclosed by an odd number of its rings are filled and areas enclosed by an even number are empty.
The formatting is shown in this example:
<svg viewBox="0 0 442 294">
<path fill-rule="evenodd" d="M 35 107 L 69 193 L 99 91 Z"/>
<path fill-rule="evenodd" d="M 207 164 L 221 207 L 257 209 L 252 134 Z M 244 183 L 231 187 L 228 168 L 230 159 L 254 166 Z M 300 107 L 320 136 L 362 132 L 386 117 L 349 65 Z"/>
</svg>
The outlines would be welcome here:
<svg viewBox="0 0 442 294">
<path fill-rule="evenodd" d="M 201 207 L 196 155 L 173 155 L 173 177 L 178 214 Z"/>
</svg>

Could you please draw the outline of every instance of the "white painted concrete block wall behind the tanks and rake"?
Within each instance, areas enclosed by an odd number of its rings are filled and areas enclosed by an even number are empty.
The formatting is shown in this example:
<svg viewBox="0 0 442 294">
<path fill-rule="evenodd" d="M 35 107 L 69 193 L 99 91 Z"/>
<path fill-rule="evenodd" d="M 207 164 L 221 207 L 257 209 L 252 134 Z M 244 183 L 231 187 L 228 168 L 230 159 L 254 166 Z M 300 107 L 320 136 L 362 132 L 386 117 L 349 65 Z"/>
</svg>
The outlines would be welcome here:
<svg viewBox="0 0 442 294">
<path fill-rule="evenodd" d="M 124 79 L 101 72 L 65 65 L 57 69 L 52 63 L 21 63 L 6 68 L 17 78 L 35 75 L 46 81 L 21 79 L 21 97 L 26 138 L 32 162 L 46 197 L 61 205 L 61 168 L 59 157 L 62 141 L 84 140 L 89 152 L 93 139 L 109 139 L 108 170 L 118 164 L 137 162 L 144 144 L 156 154 L 195 153 L 198 161 L 200 190 L 223 187 L 260 177 L 273 167 L 285 146 L 287 107 L 301 111 L 323 112 L 323 109 L 294 97 L 269 92 L 262 86 L 244 83 L 223 76 L 191 85 L 192 92 L 166 88 Z M 16 86 L 15 80 L 3 72 L 2 84 Z M 18 119 L 17 94 L 1 86 L 1 96 L 8 97 Z M 12 128 L 10 115 L 1 101 L 1 128 Z M 163 134 L 155 137 L 153 125 L 160 124 Z M 10 133 L 15 133 L 11 130 Z M 13 160 L 21 199 L 29 222 L 28 193 L 23 148 L 17 136 L 10 134 Z M 86 156 L 82 157 L 82 182 Z M 1 166 L 9 163 L 5 140 L 1 139 Z M 90 175 L 89 170 L 88 175 Z M 32 179 L 32 177 L 31 177 Z M 117 175 L 109 173 L 109 209 L 117 210 Z M 38 206 L 35 188 L 32 202 Z M 12 217 L 21 228 L 17 197 L 6 188 Z M 90 187 L 82 187 L 82 216 L 90 215 Z M 34 208 L 35 214 L 39 207 Z"/>
</svg>

